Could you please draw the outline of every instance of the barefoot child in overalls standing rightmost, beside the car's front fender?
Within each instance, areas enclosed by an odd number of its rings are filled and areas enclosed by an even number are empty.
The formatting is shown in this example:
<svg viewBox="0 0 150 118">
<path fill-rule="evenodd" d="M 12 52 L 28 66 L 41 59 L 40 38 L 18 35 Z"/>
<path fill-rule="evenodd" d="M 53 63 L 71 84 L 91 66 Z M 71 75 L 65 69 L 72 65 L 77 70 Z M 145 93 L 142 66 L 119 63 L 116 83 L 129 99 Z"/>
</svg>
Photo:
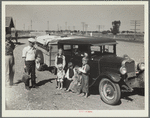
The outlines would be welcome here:
<svg viewBox="0 0 150 118">
<path fill-rule="evenodd" d="M 87 57 L 82 58 L 82 64 L 83 64 L 82 68 L 79 69 L 79 71 L 82 72 L 82 82 L 79 94 L 83 92 L 85 98 L 87 98 L 89 93 L 89 75 L 90 75 L 90 66 L 88 65 Z"/>
</svg>

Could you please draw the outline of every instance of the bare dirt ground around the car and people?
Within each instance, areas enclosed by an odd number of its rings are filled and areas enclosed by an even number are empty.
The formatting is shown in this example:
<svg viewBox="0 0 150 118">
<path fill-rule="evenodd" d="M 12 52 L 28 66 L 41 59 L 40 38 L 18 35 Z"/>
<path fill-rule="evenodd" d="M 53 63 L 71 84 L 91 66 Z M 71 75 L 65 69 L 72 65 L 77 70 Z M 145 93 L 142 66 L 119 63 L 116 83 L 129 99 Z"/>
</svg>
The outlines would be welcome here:
<svg viewBox="0 0 150 118">
<path fill-rule="evenodd" d="M 135 90 L 132 93 L 123 93 L 121 102 L 111 106 L 105 104 L 98 93 L 91 93 L 88 98 L 75 93 L 67 93 L 55 88 L 55 77 L 48 71 L 36 71 L 38 89 L 26 90 L 21 82 L 23 73 L 22 49 L 28 45 L 27 39 L 19 39 L 15 55 L 16 86 L 5 88 L 6 110 L 143 110 L 144 95 Z M 117 55 L 128 54 L 137 62 L 144 61 L 144 44 L 118 41 Z"/>
</svg>

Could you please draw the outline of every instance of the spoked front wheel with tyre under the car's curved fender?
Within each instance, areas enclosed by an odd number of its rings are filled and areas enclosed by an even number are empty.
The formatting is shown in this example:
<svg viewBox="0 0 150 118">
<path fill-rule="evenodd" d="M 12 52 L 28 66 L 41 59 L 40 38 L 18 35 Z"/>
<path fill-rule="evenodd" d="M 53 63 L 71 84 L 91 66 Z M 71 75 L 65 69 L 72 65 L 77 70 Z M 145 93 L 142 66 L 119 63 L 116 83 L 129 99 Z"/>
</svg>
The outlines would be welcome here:
<svg viewBox="0 0 150 118">
<path fill-rule="evenodd" d="M 110 105 L 115 105 L 121 97 L 120 87 L 117 83 L 112 82 L 108 78 L 102 78 L 99 84 L 99 93 L 101 99 Z"/>
</svg>

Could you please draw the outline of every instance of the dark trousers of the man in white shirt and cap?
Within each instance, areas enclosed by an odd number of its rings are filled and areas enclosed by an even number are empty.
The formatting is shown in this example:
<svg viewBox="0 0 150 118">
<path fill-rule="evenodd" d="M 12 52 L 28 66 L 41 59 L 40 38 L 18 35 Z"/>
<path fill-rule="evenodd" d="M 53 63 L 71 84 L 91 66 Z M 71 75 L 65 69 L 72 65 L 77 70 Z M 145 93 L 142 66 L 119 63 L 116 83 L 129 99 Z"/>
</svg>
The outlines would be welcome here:
<svg viewBox="0 0 150 118">
<path fill-rule="evenodd" d="M 31 74 L 31 82 L 32 82 L 32 86 L 34 86 L 36 84 L 36 82 L 35 82 L 35 61 L 25 61 L 25 65 L 26 65 L 28 75 Z M 27 80 L 25 85 L 29 86 L 29 79 Z"/>
</svg>

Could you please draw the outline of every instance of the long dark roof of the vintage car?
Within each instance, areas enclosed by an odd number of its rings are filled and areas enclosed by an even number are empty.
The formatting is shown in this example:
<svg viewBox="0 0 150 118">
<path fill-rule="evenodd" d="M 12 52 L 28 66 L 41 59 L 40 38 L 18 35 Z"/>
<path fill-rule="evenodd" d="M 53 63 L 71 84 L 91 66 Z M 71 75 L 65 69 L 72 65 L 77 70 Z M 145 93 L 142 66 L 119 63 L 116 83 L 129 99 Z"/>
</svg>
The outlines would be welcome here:
<svg viewBox="0 0 150 118">
<path fill-rule="evenodd" d="M 117 44 L 115 39 L 106 38 L 106 37 L 83 37 L 83 36 L 74 36 L 67 37 L 67 39 L 59 40 L 61 44 L 90 44 L 90 45 L 114 45 Z"/>
</svg>

